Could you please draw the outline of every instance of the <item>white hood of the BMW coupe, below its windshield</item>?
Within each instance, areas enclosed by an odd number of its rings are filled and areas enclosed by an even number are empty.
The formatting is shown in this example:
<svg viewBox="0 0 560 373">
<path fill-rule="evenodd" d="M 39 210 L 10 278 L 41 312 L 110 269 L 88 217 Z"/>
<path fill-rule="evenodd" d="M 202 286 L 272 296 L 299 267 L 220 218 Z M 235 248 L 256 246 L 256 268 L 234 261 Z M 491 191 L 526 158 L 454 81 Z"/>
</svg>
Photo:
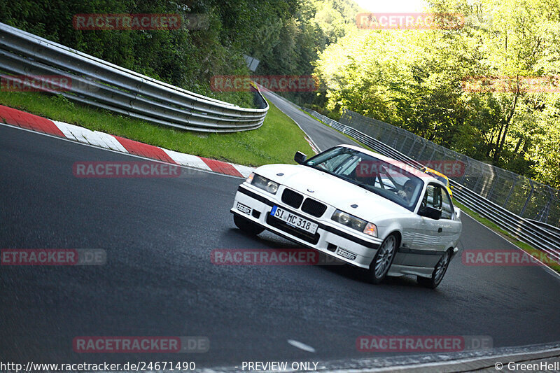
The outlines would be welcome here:
<svg viewBox="0 0 560 373">
<path fill-rule="evenodd" d="M 367 221 L 412 214 L 411 211 L 374 192 L 311 167 L 267 164 L 255 169 L 255 173 Z M 351 207 L 353 204 L 358 207 Z"/>
</svg>

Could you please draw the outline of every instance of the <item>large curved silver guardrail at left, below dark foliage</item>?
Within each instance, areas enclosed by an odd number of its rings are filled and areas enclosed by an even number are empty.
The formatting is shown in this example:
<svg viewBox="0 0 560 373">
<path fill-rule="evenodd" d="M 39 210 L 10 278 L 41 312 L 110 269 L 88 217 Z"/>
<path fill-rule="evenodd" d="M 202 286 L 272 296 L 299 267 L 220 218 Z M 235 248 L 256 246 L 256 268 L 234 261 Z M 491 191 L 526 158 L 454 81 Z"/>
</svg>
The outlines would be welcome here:
<svg viewBox="0 0 560 373">
<path fill-rule="evenodd" d="M 26 76 L 63 76 L 67 99 L 197 132 L 239 132 L 262 125 L 268 104 L 241 108 L 124 69 L 45 38 L 0 23 L 0 70 Z"/>
</svg>

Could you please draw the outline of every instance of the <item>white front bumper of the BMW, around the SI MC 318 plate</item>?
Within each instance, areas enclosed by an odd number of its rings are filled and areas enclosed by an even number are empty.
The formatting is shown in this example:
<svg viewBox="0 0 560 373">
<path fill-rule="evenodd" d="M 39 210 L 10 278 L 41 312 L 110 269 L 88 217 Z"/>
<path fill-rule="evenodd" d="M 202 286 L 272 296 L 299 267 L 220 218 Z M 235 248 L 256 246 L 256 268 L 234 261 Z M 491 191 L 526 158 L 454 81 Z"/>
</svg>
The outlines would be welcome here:
<svg viewBox="0 0 560 373">
<path fill-rule="evenodd" d="M 370 267 L 370 263 L 381 245 L 381 239 L 369 237 L 359 232 L 349 232 L 350 228 L 345 230 L 343 227 L 337 227 L 334 221 L 327 218 L 332 215 L 330 210 L 323 213 L 321 218 L 316 218 L 304 213 L 300 209 L 287 206 L 279 199 L 280 195 L 281 190 L 276 195 L 269 195 L 267 192 L 258 190 L 251 185 L 241 184 L 237 188 L 235 201 L 230 211 L 264 227 L 270 232 L 295 241 L 297 244 L 307 248 L 314 248 L 317 251 L 321 251 L 321 253 L 357 267 Z M 242 206 L 239 206 L 238 202 Z M 247 206 L 250 210 L 243 206 Z M 316 233 L 312 235 L 302 232 L 270 216 L 272 206 L 279 206 L 282 209 L 317 223 Z"/>
</svg>

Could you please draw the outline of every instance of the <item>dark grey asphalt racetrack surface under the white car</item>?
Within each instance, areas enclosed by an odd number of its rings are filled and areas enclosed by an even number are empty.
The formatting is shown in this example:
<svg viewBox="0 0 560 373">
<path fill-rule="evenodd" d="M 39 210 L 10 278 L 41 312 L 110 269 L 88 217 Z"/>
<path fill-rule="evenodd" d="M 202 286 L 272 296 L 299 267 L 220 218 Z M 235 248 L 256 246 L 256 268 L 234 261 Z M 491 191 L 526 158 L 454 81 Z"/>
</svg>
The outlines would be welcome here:
<svg viewBox="0 0 560 373">
<path fill-rule="evenodd" d="M 351 143 L 269 97 L 325 150 Z M 220 248 L 297 248 L 242 234 L 229 209 L 242 179 L 76 178 L 77 161 L 139 160 L 0 125 L 0 248 L 101 248 L 102 266 L 0 266 L 3 361 L 125 363 L 330 360 L 361 335 L 484 335 L 494 347 L 556 342 L 559 277 L 536 266 L 472 267 L 461 253 L 436 290 L 412 276 L 372 286 L 343 266 L 214 265 Z M 514 247 L 463 214 L 465 249 Z M 206 353 L 76 353 L 78 336 L 204 336 Z M 311 346 L 298 349 L 288 340 Z"/>
</svg>

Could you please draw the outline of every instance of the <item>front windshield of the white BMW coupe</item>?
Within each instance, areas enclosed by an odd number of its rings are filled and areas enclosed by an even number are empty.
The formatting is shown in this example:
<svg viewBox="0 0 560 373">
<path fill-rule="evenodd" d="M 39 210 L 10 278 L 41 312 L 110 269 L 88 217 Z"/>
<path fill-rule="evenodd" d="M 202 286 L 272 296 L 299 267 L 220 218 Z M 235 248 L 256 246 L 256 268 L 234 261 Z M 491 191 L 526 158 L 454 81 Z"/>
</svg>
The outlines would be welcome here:
<svg viewBox="0 0 560 373">
<path fill-rule="evenodd" d="M 423 185 L 419 177 L 406 169 L 350 148 L 332 148 L 304 165 L 343 178 L 410 211 L 414 210 Z"/>
</svg>

